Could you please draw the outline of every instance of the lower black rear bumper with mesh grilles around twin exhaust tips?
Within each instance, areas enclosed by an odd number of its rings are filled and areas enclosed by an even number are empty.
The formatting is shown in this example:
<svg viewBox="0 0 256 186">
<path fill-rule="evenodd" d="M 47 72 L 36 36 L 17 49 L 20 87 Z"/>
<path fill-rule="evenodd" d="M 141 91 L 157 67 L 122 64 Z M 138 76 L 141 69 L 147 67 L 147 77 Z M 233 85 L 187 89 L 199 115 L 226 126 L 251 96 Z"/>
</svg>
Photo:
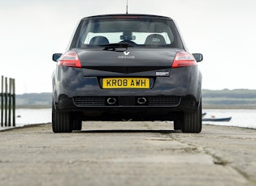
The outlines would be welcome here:
<svg viewBox="0 0 256 186">
<path fill-rule="evenodd" d="M 115 104 L 108 99 L 115 98 Z M 198 102 L 193 96 L 145 96 L 145 104 L 139 104 L 137 96 L 75 97 L 59 96 L 55 107 L 61 112 L 74 112 L 82 120 L 174 120 L 183 112 L 195 112 Z M 143 99 L 144 100 L 144 99 Z"/>
</svg>

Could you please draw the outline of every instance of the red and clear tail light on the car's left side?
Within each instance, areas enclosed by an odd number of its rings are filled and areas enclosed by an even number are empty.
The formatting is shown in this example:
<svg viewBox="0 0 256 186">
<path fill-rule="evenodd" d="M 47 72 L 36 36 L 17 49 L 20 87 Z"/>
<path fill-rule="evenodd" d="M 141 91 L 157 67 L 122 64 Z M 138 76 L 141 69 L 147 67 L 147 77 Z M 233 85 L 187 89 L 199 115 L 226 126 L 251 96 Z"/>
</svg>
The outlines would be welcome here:
<svg viewBox="0 0 256 186">
<path fill-rule="evenodd" d="M 77 53 L 72 51 L 64 53 L 63 56 L 59 58 L 58 65 L 70 66 L 70 67 L 76 67 L 76 68 L 82 67 Z"/>
</svg>

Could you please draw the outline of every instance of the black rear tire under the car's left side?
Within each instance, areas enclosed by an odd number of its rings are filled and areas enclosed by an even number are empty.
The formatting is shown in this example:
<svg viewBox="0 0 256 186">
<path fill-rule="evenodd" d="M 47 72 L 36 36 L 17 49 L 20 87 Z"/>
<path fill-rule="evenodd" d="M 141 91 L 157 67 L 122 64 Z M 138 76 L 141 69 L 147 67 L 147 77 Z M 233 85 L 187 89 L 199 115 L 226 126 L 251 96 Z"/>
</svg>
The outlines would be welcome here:
<svg viewBox="0 0 256 186">
<path fill-rule="evenodd" d="M 72 118 L 69 112 L 59 112 L 52 104 L 52 129 L 54 133 L 72 133 Z"/>
</svg>

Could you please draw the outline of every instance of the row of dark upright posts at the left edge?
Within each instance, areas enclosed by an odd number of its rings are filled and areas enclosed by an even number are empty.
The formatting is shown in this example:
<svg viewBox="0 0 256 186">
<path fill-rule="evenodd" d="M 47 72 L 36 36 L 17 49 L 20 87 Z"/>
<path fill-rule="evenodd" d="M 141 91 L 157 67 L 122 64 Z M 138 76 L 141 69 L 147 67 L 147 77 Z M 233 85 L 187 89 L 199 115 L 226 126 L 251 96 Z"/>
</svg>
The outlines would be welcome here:
<svg viewBox="0 0 256 186">
<path fill-rule="evenodd" d="M 2 76 L 1 81 L 1 127 L 15 126 L 15 79 Z"/>
</svg>

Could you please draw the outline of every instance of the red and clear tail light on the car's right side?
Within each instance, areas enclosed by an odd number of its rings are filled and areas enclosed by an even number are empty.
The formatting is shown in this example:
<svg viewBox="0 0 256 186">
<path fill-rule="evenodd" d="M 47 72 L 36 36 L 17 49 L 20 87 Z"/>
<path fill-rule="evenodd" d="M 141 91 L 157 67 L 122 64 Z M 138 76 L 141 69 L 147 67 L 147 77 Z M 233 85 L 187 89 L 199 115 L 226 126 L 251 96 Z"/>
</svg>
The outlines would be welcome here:
<svg viewBox="0 0 256 186">
<path fill-rule="evenodd" d="M 174 68 L 179 68 L 183 66 L 195 66 L 195 65 L 197 65 L 197 61 L 190 53 L 178 52 L 176 53 L 176 57 L 174 58 L 171 68 L 174 69 Z"/>
</svg>

